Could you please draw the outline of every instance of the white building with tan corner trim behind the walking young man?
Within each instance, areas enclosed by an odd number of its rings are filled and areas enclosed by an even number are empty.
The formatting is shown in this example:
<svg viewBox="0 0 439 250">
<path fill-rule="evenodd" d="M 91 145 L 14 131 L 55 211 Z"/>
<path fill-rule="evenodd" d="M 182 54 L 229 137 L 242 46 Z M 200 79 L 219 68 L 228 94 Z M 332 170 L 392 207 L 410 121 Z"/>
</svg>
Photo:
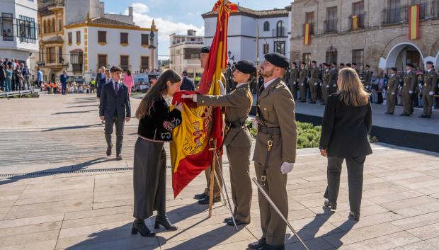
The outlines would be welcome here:
<svg viewBox="0 0 439 250">
<path fill-rule="evenodd" d="M 69 75 L 89 81 L 102 66 L 119 66 L 132 73 L 158 69 L 158 30 L 122 23 L 105 17 L 65 26 L 64 47 Z M 150 38 L 154 34 L 153 44 Z"/>
</svg>

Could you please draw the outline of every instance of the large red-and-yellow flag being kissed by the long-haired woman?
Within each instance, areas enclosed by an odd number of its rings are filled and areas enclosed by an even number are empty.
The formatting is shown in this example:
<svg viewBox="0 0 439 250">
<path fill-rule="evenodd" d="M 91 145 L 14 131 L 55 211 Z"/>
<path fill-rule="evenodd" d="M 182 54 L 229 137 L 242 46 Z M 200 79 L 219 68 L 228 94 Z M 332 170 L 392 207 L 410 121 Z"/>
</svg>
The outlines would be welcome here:
<svg viewBox="0 0 439 250">
<path fill-rule="evenodd" d="M 209 149 L 215 147 L 218 154 L 222 152 L 223 117 L 221 108 L 200 107 L 189 99 L 182 99 L 185 94 L 220 95 L 222 69 L 227 67 L 227 28 L 229 16 L 237 11 L 238 6 L 227 0 L 219 0 L 212 11 L 217 12 L 217 30 L 210 46 L 209 59 L 205 65 L 200 88 L 196 91 L 179 91 L 173 96 L 171 108 L 183 102 L 182 123 L 173 130 L 171 142 L 172 188 L 174 198 L 200 172 L 212 164 L 213 154 Z"/>
</svg>

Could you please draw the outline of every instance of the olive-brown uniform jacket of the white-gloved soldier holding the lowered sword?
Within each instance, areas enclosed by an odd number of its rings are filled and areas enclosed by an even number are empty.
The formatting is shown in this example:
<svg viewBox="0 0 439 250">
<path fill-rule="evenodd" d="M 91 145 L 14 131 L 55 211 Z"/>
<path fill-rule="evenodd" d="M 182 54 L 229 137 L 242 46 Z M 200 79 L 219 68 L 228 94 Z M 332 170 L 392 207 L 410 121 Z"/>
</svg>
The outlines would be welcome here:
<svg viewBox="0 0 439 250">
<path fill-rule="evenodd" d="M 297 125 L 295 121 L 295 101 L 290 90 L 281 79 L 273 81 L 258 96 L 258 125 L 279 127 L 281 135 L 273 136 L 273 147 L 270 152 L 269 165 L 280 167 L 283 162 L 296 161 Z M 265 164 L 267 157 L 267 141 L 270 136 L 258 132 L 256 136 L 253 161 Z"/>
</svg>

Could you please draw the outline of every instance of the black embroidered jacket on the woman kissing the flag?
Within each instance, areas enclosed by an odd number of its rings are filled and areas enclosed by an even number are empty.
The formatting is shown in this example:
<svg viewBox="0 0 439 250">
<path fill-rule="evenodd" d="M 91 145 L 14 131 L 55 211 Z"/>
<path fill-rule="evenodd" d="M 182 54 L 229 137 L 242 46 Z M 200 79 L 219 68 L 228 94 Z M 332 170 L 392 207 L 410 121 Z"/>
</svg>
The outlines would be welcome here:
<svg viewBox="0 0 439 250">
<path fill-rule="evenodd" d="M 160 96 L 154 100 L 151 113 L 139 120 L 137 135 L 154 142 L 171 142 L 172 131 L 181 121 L 181 112 L 169 111 L 168 103 Z"/>
</svg>

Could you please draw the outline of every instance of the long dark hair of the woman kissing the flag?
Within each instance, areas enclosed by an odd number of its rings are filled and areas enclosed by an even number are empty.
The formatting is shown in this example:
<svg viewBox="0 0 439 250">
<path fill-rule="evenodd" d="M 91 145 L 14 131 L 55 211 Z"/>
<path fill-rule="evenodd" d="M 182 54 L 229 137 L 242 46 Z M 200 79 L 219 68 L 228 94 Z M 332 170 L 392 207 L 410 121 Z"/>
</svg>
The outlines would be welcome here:
<svg viewBox="0 0 439 250">
<path fill-rule="evenodd" d="M 150 115 L 152 107 L 154 106 L 154 101 L 161 96 L 166 95 L 168 91 L 168 81 L 171 81 L 171 84 L 175 84 L 181 81 L 181 76 L 173 71 L 172 69 L 166 70 L 159 79 L 156 84 L 149 89 L 148 93 L 144 96 L 142 101 L 139 104 L 139 108 L 136 110 L 136 118 L 142 119 L 147 115 Z"/>
</svg>

